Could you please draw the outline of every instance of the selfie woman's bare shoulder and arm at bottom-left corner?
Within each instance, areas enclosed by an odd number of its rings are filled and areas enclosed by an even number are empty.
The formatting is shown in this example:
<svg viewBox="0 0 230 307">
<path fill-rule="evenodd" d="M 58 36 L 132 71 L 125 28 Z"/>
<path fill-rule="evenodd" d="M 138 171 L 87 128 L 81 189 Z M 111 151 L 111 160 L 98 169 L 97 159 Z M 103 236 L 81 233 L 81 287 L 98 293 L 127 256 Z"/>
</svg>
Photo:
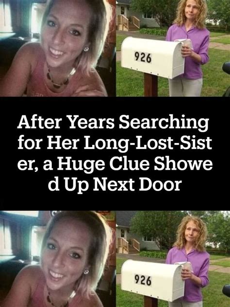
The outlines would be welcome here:
<svg viewBox="0 0 230 307">
<path fill-rule="evenodd" d="M 27 266 L 16 276 L 12 288 L 3 301 L 1 307 L 25 307 L 28 305 L 33 290 L 42 271 L 39 266 Z"/>
</svg>

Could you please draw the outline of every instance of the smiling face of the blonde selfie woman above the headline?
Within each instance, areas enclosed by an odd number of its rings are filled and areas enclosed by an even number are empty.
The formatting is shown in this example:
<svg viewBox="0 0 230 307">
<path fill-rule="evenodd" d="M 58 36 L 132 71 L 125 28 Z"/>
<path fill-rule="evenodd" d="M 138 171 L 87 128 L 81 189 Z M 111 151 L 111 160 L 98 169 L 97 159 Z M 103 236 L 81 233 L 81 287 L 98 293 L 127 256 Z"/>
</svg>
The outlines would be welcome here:
<svg viewBox="0 0 230 307">
<path fill-rule="evenodd" d="M 83 0 L 55 0 L 42 27 L 41 44 L 49 66 L 71 66 L 88 45 L 91 10 Z"/>
</svg>

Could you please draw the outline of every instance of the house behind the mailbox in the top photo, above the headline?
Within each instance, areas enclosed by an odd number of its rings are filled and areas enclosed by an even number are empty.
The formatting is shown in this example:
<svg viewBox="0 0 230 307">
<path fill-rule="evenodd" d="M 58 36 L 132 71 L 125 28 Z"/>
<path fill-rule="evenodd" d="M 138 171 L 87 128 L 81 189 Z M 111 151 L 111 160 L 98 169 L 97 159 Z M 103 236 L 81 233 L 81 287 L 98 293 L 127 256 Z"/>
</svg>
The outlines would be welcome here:
<svg viewBox="0 0 230 307">
<path fill-rule="evenodd" d="M 159 27 L 159 24 L 151 16 L 140 12 L 132 11 L 130 8 L 131 0 L 116 0 L 116 25 L 118 28 L 118 16 L 123 15 L 126 18 L 135 16 L 140 20 L 140 27 Z M 118 29 L 119 30 L 119 29 Z"/>
</svg>

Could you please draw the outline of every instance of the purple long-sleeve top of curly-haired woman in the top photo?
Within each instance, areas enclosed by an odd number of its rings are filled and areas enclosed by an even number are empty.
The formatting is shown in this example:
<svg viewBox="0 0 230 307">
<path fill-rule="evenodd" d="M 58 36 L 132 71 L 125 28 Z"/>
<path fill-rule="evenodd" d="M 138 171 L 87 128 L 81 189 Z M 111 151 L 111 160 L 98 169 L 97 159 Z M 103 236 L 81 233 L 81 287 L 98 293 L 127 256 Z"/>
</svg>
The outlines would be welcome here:
<svg viewBox="0 0 230 307">
<path fill-rule="evenodd" d="M 175 39 L 189 38 L 192 41 L 194 52 L 201 56 L 201 63 L 197 63 L 190 56 L 185 57 L 184 73 L 181 77 L 186 79 L 202 78 L 202 70 L 200 64 L 205 64 L 209 60 L 209 34 L 207 29 L 197 29 L 192 27 L 188 31 L 184 25 L 178 26 L 173 24 L 167 31 L 166 40 L 174 41 Z"/>
</svg>

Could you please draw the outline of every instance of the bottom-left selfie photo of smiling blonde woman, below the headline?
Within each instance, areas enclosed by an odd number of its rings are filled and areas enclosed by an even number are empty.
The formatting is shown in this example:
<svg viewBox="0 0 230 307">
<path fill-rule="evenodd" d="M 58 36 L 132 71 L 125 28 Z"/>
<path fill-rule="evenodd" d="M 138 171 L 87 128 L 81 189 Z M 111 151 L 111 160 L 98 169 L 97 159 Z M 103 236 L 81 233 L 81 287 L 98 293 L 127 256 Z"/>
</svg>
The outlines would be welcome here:
<svg viewBox="0 0 230 307">
<path fill-rule="evenodd" d="M 15 259 L 0 265 L 0 279 L 8 271 L 5 287 L 0 287 L 1 307 L 115 307 L 115 214 L 107 221 L 96 211 L 62 211 L 51 218 L 49 211 L 39 211 L 37 217 L 14 213 L 0 212 L 0 220 L 4 225 L 9 221 L 5 228 L 16 232 L 18 242 L 20 222 L 31 245 L 19 245 Z M 47 225 L 32 226 L 38 224 Z M 38 246 L 40 257 L 25 256 L 26 248 L 37 254 Z M 23 254 L 29 260 L 22 260 Z"/>
</svg>

